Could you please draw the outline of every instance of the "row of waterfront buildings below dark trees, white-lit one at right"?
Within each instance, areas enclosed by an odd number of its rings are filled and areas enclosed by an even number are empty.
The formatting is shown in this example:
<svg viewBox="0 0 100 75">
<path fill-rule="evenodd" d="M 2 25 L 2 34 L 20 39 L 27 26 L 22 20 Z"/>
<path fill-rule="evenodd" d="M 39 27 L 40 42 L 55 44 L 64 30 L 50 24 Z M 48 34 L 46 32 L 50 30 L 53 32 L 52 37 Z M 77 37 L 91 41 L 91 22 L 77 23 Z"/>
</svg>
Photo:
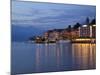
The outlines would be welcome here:
<svg viewBox="0 0 100 75">
<path fill-rule="evenodd" d="M 96 25 L 82 25 L 79 28 L 68 29 L 54 29 L 48 30 L 44 33 L 45 40 L 56 41 L 66 39 L 77 39 L 77 38 L 95 38 L 96 36 Z"/>
</svg>

